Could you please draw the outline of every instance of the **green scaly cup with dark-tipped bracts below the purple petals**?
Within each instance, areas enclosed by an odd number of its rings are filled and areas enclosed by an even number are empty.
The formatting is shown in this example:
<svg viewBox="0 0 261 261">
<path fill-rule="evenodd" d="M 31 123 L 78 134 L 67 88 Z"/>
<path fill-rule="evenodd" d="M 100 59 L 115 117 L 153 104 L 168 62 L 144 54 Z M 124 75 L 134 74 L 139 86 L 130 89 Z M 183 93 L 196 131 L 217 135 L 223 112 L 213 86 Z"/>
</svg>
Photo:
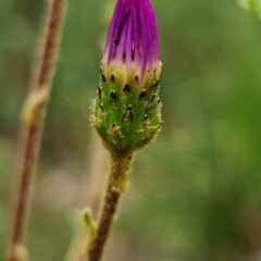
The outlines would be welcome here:
<svg viewBox="0 0 261 261">
<path fill-rule="evenodd" d="M 100 85 L 94 104 L 94 126 L 107 147 L 139 149 L 160 130 L 159 74 L 153 73 L 145 79 L 144 89 L 140 89 L 137 75 L 125 82 L 121 72 L 104 75 L 103 66 L 101 64 Z"/>
</svg>

